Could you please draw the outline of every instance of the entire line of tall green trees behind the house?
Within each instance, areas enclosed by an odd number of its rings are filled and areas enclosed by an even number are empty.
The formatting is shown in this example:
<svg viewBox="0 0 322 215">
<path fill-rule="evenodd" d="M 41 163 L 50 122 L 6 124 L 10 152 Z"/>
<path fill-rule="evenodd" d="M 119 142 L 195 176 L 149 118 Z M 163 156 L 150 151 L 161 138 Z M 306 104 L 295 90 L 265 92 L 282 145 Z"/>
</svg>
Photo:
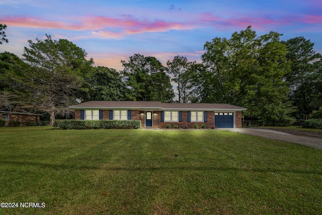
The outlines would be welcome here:
<svg viewBox="0 0 322 215">
<path fill-rule="evenodd" d="M 292 123 L 322 106 L 322 59 L 310 40 L 281 41 L 281 36 L 273 31 L 258 36 L 249 26 L 207 41 L 201 63 L 175 56 L 163 65 L 137 53 L 116 71 L 94 66 L 72 42 L 46 35 L 29 40 L 23 58 L 0 53 L 0 108 L 42 110 L 53 121 L 70 114 L 75 98 L 229 103 L 246 107 L 243 115 L 262 124 Z"/>
</svg>

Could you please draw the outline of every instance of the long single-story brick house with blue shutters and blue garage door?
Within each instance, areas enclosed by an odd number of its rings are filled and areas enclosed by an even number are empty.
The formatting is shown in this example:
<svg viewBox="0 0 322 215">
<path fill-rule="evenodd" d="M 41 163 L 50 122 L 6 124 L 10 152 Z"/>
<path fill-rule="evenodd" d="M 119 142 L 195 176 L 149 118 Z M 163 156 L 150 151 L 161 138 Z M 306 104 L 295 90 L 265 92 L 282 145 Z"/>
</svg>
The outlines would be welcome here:
<svg viewBox="0 0 322 215">
<path fill-rule="evenodd" d="M 178 125 L 193 128 L 241 128 L 241 111 L 246 108 L 230 104 L 161 103 L 136 101 L 90 101 L 69 106 L 75 119 L 141 120 L 143 128 L 165 128 Z"/>
</svg>

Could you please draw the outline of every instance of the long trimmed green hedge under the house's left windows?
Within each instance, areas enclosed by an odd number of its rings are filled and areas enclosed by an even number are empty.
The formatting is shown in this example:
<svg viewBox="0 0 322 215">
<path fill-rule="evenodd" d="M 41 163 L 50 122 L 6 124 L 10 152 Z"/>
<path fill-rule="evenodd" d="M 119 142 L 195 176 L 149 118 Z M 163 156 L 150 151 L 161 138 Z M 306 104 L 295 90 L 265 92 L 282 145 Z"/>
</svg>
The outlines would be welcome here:
<svg viewBox="0 0 322 215">
<path fill-rule="evenodd" d="M 140 128 L 140 120 L 74 120 L 57 119 L 53 127 L 62 129 L 111 129 L 111 128 Z"/>
</svg>

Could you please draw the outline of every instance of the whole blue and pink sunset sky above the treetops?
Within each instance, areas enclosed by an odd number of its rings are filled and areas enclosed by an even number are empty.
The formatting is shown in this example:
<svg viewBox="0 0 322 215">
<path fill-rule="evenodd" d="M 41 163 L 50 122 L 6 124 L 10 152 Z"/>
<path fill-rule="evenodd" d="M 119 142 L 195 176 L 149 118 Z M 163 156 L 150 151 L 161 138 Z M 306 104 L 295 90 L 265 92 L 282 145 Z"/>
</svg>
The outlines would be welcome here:
<svg viewBox="0 0 322 215">
<path fill-rule="evenodd" d="M 201 62 L 207 41 L 249 25 L 257 35 L 281 33 L 284 41 L 303 36 L 322 53 L 322 0 L 0 0 L 0 23 L 9 39 L 0 52 L 22 57 L 28 40 L 48 34 L 118 71 L 136 53 L 164 65 L 177 55 Z"/>
</svg>

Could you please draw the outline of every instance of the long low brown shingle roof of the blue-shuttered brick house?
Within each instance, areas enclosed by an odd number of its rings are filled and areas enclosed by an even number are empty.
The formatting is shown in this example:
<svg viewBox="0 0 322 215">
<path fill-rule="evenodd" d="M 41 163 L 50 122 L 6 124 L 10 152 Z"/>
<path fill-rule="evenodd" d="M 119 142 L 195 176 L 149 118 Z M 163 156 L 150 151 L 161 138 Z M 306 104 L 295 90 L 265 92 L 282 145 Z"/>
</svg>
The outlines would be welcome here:
<svg viewBox="0 0 322 215">
<path fill-rule="evenodd" d="M 161 102 L 144 102 L 144 101 L 90 101 L 77 105 L 71 105 L 69 108 L 131 108 L 131 109 L 180 109 L 180 110 L 246 110 L 230 104 L 213 104 L 213 103 L 161 103 Z"/>
</svg>

